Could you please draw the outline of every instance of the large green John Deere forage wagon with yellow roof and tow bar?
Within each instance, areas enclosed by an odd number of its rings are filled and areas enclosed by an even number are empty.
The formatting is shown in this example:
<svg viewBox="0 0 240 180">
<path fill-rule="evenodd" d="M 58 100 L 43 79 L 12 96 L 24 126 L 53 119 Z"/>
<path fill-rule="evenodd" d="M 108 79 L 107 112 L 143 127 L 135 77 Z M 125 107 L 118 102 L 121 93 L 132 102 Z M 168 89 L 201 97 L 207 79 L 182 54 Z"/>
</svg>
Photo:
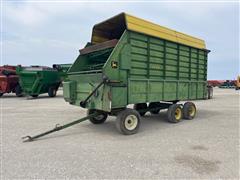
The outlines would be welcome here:
<svg viewBox="0 0 240 180">
<path fill-rule="evenodd" d="M 88 109 L 87 117 L 26 141 L 87 119 L 101 124 L 108 115 L 117 116 L 116 127 L 126 135 L 138 131 L 147 111 L 168 109 L 172 123 L 193 119 L 194 103 L 177 103 L 207 98 L 208 52 L 203 40 L 125 13 L 96 24 L 63 83 L 65 100 Z"/>
</svg>

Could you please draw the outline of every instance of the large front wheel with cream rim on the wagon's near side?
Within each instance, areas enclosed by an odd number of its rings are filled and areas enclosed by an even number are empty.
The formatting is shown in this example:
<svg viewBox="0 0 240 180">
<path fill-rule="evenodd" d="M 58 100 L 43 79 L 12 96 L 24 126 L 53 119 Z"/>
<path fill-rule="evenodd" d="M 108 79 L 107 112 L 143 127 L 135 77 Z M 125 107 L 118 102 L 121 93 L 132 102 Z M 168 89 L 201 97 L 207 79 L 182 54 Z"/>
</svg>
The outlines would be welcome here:
<svg viewBox="0 0 240 180">
<path fill-rule="evenodd" d="M 133 115 L 132 117 L 135 117 L 134 123 L 136 124 L 133 124 L 133 129 L 128 128 L 125 124 L 125 123 L 128 123 L 126 121 L 127 120 L 129 121 L 129 119 L 127 118 L 129 118 L 130 115 Z M 141 123 L 140 119 L 141 119 L 140 114 L 136 110 L 127 108 L 121 111 L 117 115 L 116 128 L 121 134 L 124 134 L 124 135 L 136 134 L 140 127 L 140 123 Z"/>
</svg>

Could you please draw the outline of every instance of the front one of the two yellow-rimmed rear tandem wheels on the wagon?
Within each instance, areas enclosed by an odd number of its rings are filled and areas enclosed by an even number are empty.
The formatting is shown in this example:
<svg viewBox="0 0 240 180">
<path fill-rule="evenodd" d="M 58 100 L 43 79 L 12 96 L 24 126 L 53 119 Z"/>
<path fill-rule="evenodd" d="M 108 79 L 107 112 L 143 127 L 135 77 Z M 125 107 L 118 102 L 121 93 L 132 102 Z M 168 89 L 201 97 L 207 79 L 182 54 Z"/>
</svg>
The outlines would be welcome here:
<svg viewBox="0 0 240 180">
<path fill-rule="evenodd" d="M 176 117 L 176 112 L 180 113 L 179 118 Z M 182 121 L 182 117 L 183 117 L 183 112 L 182 112 L 181 105 L 173 104 L 168 108 L 168 111 L 167 111 L 168 122 L 178 123 L 178 122 Z"/>
</svg>

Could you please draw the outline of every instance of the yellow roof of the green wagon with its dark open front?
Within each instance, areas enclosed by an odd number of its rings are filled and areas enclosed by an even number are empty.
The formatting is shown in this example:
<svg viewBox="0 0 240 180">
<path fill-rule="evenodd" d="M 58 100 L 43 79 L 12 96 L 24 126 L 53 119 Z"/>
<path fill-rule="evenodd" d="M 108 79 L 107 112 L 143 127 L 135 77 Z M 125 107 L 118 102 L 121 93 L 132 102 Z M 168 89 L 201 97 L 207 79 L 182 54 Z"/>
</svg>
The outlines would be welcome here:
<svg viewBox="0 0 240 180">
<path fill-rule="evenodd" d="M 91 41 L 92 43 L 101 43 L 115 38 L 119 39 L 125 29 L 199 49 L 206 49 L 205 42 L 202 39 L 154 24 L 126 13 L 121 13 L 96 24 L 93 27 Z"/>
</svg>

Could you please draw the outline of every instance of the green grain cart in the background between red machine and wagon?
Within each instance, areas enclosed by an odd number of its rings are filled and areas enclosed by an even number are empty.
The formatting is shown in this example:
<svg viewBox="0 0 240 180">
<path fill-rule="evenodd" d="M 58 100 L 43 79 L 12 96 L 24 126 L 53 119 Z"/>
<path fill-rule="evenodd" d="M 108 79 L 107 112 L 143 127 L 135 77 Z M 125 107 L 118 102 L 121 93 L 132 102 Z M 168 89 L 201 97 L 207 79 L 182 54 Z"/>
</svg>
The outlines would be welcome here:
<svg viewBox="0 0 240 180">
<path fill-rule="evenodd" d="M 48 93 L 49 97 L 55 97 L 57 90 L 71 64 L 54 64 L 53 68 L 46 66 L 18 67 L 17 73 L 23 92 L 32 97 Z"/>
</svg>

